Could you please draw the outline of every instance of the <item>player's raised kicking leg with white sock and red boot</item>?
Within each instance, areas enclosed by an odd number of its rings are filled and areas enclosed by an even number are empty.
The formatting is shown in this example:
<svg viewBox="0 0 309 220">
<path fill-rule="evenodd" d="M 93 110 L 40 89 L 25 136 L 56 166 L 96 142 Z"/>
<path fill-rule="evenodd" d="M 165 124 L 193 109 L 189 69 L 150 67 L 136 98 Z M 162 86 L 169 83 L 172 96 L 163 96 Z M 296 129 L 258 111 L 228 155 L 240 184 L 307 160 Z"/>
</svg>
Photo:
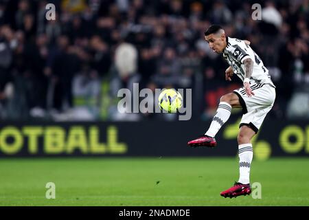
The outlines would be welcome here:
<svg viewBox="0 0 309 220">
<path fill-rule="evenodd" d="M 238 96 L 234 93 L 226 94 L 220 98 L 220 103 L 216 111 L 216 115 L 212 119 L 208 131 L 205 135 L 201 135 L 195 140 L 191 140 L 187 144 L 192 147 L 196 146 L 216 146 L 216 133 L 220 130 L 223 124 L 227 122 L 231 115 L 232 107 L 241 107 Z"/>
</svg>

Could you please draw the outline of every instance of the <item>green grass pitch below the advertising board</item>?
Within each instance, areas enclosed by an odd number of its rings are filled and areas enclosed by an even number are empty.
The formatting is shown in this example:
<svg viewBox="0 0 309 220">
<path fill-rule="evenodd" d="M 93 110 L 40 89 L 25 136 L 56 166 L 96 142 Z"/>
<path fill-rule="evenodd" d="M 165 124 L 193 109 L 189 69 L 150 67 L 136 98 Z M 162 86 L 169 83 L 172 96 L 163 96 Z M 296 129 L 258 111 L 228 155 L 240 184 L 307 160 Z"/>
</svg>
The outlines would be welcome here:
<svg viewBox="0 0 309 220">
<path fill-rule="evenodd" d="M 253 160 L 262 199 L 225 199 L 236 157 L 0 159 L 0 206 L 309 206 L 308 167 L 304 157 Z"/>
</svg>

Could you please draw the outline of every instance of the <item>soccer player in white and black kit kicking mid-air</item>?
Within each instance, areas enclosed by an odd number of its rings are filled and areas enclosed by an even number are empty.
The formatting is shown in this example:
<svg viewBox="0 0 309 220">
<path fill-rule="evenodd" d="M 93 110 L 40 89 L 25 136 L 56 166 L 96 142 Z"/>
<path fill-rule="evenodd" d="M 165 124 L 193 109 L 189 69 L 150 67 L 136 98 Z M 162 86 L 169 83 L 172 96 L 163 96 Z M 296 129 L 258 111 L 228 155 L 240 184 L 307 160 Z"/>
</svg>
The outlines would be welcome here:
<svg viewBox="0 0 309 220">
<path fill-rule="evenodd" d="M 229 63 L 225 79 L 231 81 L 236 74 L 243 87 L 220 98 L 216 115 L 205 135 L 187 144 L 192 147 L 214 147 L 216 133 L 231 115 L 231 108 L 242 107 L 242 120 L 238 133 L 239 180 L 228 190 L 220 193 L 222 197 L 238 197 L 251 193 L 249 175 L 253 158 L 252 137 L 258 133 L 262 122 L 275 102 L 275 85 L 258 54 L 251 49 L 249 41 L 227 37 L 219 25 L 211 25 L 205 32 L 205 40 L 216 53 L 222 53 Z"/>
</svg>

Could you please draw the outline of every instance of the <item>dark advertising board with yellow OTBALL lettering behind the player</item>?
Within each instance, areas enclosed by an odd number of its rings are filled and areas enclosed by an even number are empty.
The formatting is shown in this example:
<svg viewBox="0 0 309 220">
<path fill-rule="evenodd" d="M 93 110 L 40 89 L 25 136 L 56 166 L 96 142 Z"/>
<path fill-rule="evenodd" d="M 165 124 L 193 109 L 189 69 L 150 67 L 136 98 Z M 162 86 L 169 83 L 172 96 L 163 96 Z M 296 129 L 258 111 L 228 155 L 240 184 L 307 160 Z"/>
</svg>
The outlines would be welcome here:
<svg viewBox="0 0 309 220">
<path fill-rule="evenodd" d="M 237 156 L 240 118 L 216 136 L 216 148 L 189 148 L 209 121 L 29 122 L 0 126 L 0 157 Z M 253 139 L 255 159 L 309 156 L 309 121 L 266 120 Z"/>
</svg>

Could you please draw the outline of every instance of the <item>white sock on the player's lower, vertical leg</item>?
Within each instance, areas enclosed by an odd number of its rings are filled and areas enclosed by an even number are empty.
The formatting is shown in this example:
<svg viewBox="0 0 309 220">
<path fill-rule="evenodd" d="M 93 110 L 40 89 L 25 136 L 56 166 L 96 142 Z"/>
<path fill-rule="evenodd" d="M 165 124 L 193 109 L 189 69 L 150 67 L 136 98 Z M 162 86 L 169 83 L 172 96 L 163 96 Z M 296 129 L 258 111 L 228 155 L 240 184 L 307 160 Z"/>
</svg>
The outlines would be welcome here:
<svg viewBox="0 0 309 220">
<path fill-rule="evenodd" d="M 250 183 L 250 166 L 253 158 L 252 144 L 240 144 L 238 146 L 239 155 L 239 183 Z"/>
</svg>

